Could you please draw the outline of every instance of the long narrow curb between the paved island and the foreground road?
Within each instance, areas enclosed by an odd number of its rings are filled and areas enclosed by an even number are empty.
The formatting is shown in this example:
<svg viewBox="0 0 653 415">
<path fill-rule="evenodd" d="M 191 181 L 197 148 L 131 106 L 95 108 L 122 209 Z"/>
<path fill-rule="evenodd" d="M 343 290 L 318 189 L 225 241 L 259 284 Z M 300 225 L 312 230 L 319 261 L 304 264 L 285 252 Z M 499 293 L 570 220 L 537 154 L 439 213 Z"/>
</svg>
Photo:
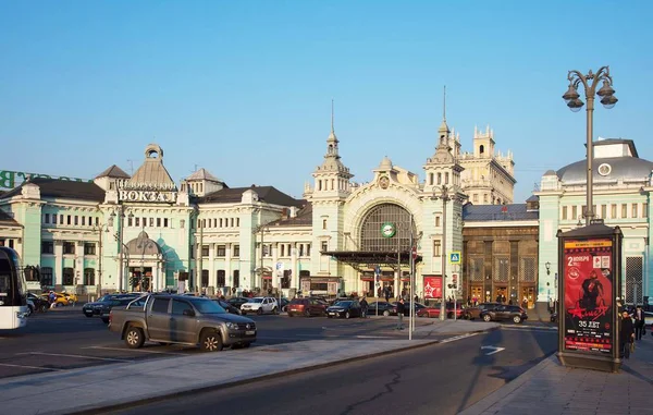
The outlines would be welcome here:
<svg viewBox="0 0 653 415">
<path fill-rule="evenodd" d="M 489 331 L 494 331 L 494 330 L 498 330 L 498 329 L 500 329 L 500 327 L 494 327 L 494 328 L 490 328 L 488 330 L 467 331 L 465 333 L 481 333 L 481 332 L 489 332 Z M 447 333 L 447 334 L 455 334 L 455 333 Z M 206 385 L 206 386 L 193 387 L 193 388 L 177 388 L 175 390 L 162 392 L 161 394 L 155 394 L 151 396 L 146 396 L 146 398 L 140 398 L 140 399 L 125 399 L 122 401 L 119 400 L 118 402 L 112 403 L 110 405 L 93 405 L 91 404 L 91 405 L 82 406 L 79 408 L 50 412 L 48 414 L 52 414 L 52 415 L 59 415 L 59 414 L 95 415 L 95 414 L 107 413 L 107 412 L 111 412 L 111 411 L 119 411 L 119 410 L 124 410 L 127 407 L 146 405 L 146 404 L 153 403 L 153 402 L 167 401 L 169 399 L 173 399 L 173 398 L 181 396 L 181 395 L 188 396 L 188 394 L 200 394 L 200 393 L 205 393 L 205 392 L 209 392 L 209 391 L 226 389 L 226 388 L 232 388 L 232 387 L 236 387 L 236 386 L 241 386 L 241 385 L 248 385 L 248 383 L 252 383 L 252 382 L 257 382 L 257 381 L 261 381 L 261 380 L 278 378 L 279 376 L 294 375 L 294 374 L 304 373 L 304 371 L 308 371 L 308 370 L 319 370 L 319 369 L 322 369 L 325 367 L 333 367 L 336 365 L 343 365 L 343 364 L 347 364 L 350 362 L 367 361 L 367 359 L 371 359 L 374 357 L 385 356 L 389 354 L 402 353 L 402 352 L 427 347 L 427 346 L 430 346 L 433 344 L 439 344 L 440 342 L 441 342 L 440 340 L 427 341 L 427 342 L 423 342 L 420 344 L 409 345 L 406 347 L 372 353 L 372 354 L 364 355 L 364 356 L 345 358 L 345 359 L 342 359 L 338 362 L 329 362 L 329 363 L 322 363 L 322 364 L 296 368 L 296 369 L 275 371 L 275 373 L 272 373 L 269 375 L 256 376 L 256 377 L 252 377 L 249 379 L 235 380 L 235 381 L 231 381 L 231 382 L 227 381 L 227 382 L 215 383 L 215 385 Z"/>
</svg>

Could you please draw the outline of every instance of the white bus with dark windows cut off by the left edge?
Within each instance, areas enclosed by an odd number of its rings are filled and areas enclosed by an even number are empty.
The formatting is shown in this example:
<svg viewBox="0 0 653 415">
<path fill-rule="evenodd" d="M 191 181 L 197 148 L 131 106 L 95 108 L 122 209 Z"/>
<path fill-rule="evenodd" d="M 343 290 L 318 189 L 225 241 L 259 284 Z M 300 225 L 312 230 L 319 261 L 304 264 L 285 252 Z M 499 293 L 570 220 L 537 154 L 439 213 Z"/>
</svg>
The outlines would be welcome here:
<svg viewBox="0 0 653 415">
<path fill-rule="evenodd" d="M 17 329 L 27 325 L 27 283 L 19 254 L 0 246 L 0 329 Z"/>
</svg>

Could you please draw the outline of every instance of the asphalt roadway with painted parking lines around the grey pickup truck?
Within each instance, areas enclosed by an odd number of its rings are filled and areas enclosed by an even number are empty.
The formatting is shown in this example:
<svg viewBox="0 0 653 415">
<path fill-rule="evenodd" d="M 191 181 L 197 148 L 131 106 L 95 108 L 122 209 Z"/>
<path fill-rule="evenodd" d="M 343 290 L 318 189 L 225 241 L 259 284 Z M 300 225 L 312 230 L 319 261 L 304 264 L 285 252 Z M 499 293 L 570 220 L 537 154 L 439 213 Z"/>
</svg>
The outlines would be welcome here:
<svg viewBox="0 0 653 415">
<path fill-rule="evenodd" d="M 288 318 L 285 315 L 248 317 L 256 320 L 259 328 L 254 347 L 316 339 L 407 337 L 407 331 L 392 330 L 396 317 L 349 320 Z M 417 321 L 419 325 L 431 322 L 429 319 Z M 223 353 L 245 352 L 226 350 Z M 65 307 L 33 315 L 26 328 L 0 330 L 0 378 L 193 353 L 200 352 L 195 347 L 159 344 L 127 349 L 99 318 L 85 317 L 81 306 Z"/>
</svg>

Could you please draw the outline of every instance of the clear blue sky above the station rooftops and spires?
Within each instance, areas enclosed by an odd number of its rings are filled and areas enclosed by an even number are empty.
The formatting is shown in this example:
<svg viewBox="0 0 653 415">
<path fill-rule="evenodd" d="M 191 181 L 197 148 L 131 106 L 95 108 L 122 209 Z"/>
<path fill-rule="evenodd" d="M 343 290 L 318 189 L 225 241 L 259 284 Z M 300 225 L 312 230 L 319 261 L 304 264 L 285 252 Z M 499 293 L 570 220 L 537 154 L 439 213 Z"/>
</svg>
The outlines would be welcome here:
<svg viewBox="0 0 653 415">
<path fill-rule="evenodd" d="M 595 136 L 653 160 L 649 1 L 0 0 L 0 170 L 93 179 L 138 168 L 156 142 L 175 181 L 195 166 L 231 187 L 300 197 L 335 99 L 343 162 L 384 156 L 420 174 L 447 121 L 514 152 L 516 202 L 584 158 L 567 71 L 609 65 L 619 102 Z"/>
</svg>

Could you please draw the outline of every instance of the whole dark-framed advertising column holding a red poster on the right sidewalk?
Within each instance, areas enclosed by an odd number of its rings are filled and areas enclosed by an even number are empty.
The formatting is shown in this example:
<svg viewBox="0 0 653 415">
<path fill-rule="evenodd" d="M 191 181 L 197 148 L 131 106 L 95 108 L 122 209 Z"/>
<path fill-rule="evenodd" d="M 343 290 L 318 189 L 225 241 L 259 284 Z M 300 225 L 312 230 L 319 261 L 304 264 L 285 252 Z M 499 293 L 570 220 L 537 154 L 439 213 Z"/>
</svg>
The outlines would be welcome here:
<svg viewBox="0 0 653 415">
<path fill-rule="evenodd" d="M 558 357 L 565 366 L 618 370 L 620 236 L 619 228 L 603 224 L 558 234 Z"/>
</svg>

